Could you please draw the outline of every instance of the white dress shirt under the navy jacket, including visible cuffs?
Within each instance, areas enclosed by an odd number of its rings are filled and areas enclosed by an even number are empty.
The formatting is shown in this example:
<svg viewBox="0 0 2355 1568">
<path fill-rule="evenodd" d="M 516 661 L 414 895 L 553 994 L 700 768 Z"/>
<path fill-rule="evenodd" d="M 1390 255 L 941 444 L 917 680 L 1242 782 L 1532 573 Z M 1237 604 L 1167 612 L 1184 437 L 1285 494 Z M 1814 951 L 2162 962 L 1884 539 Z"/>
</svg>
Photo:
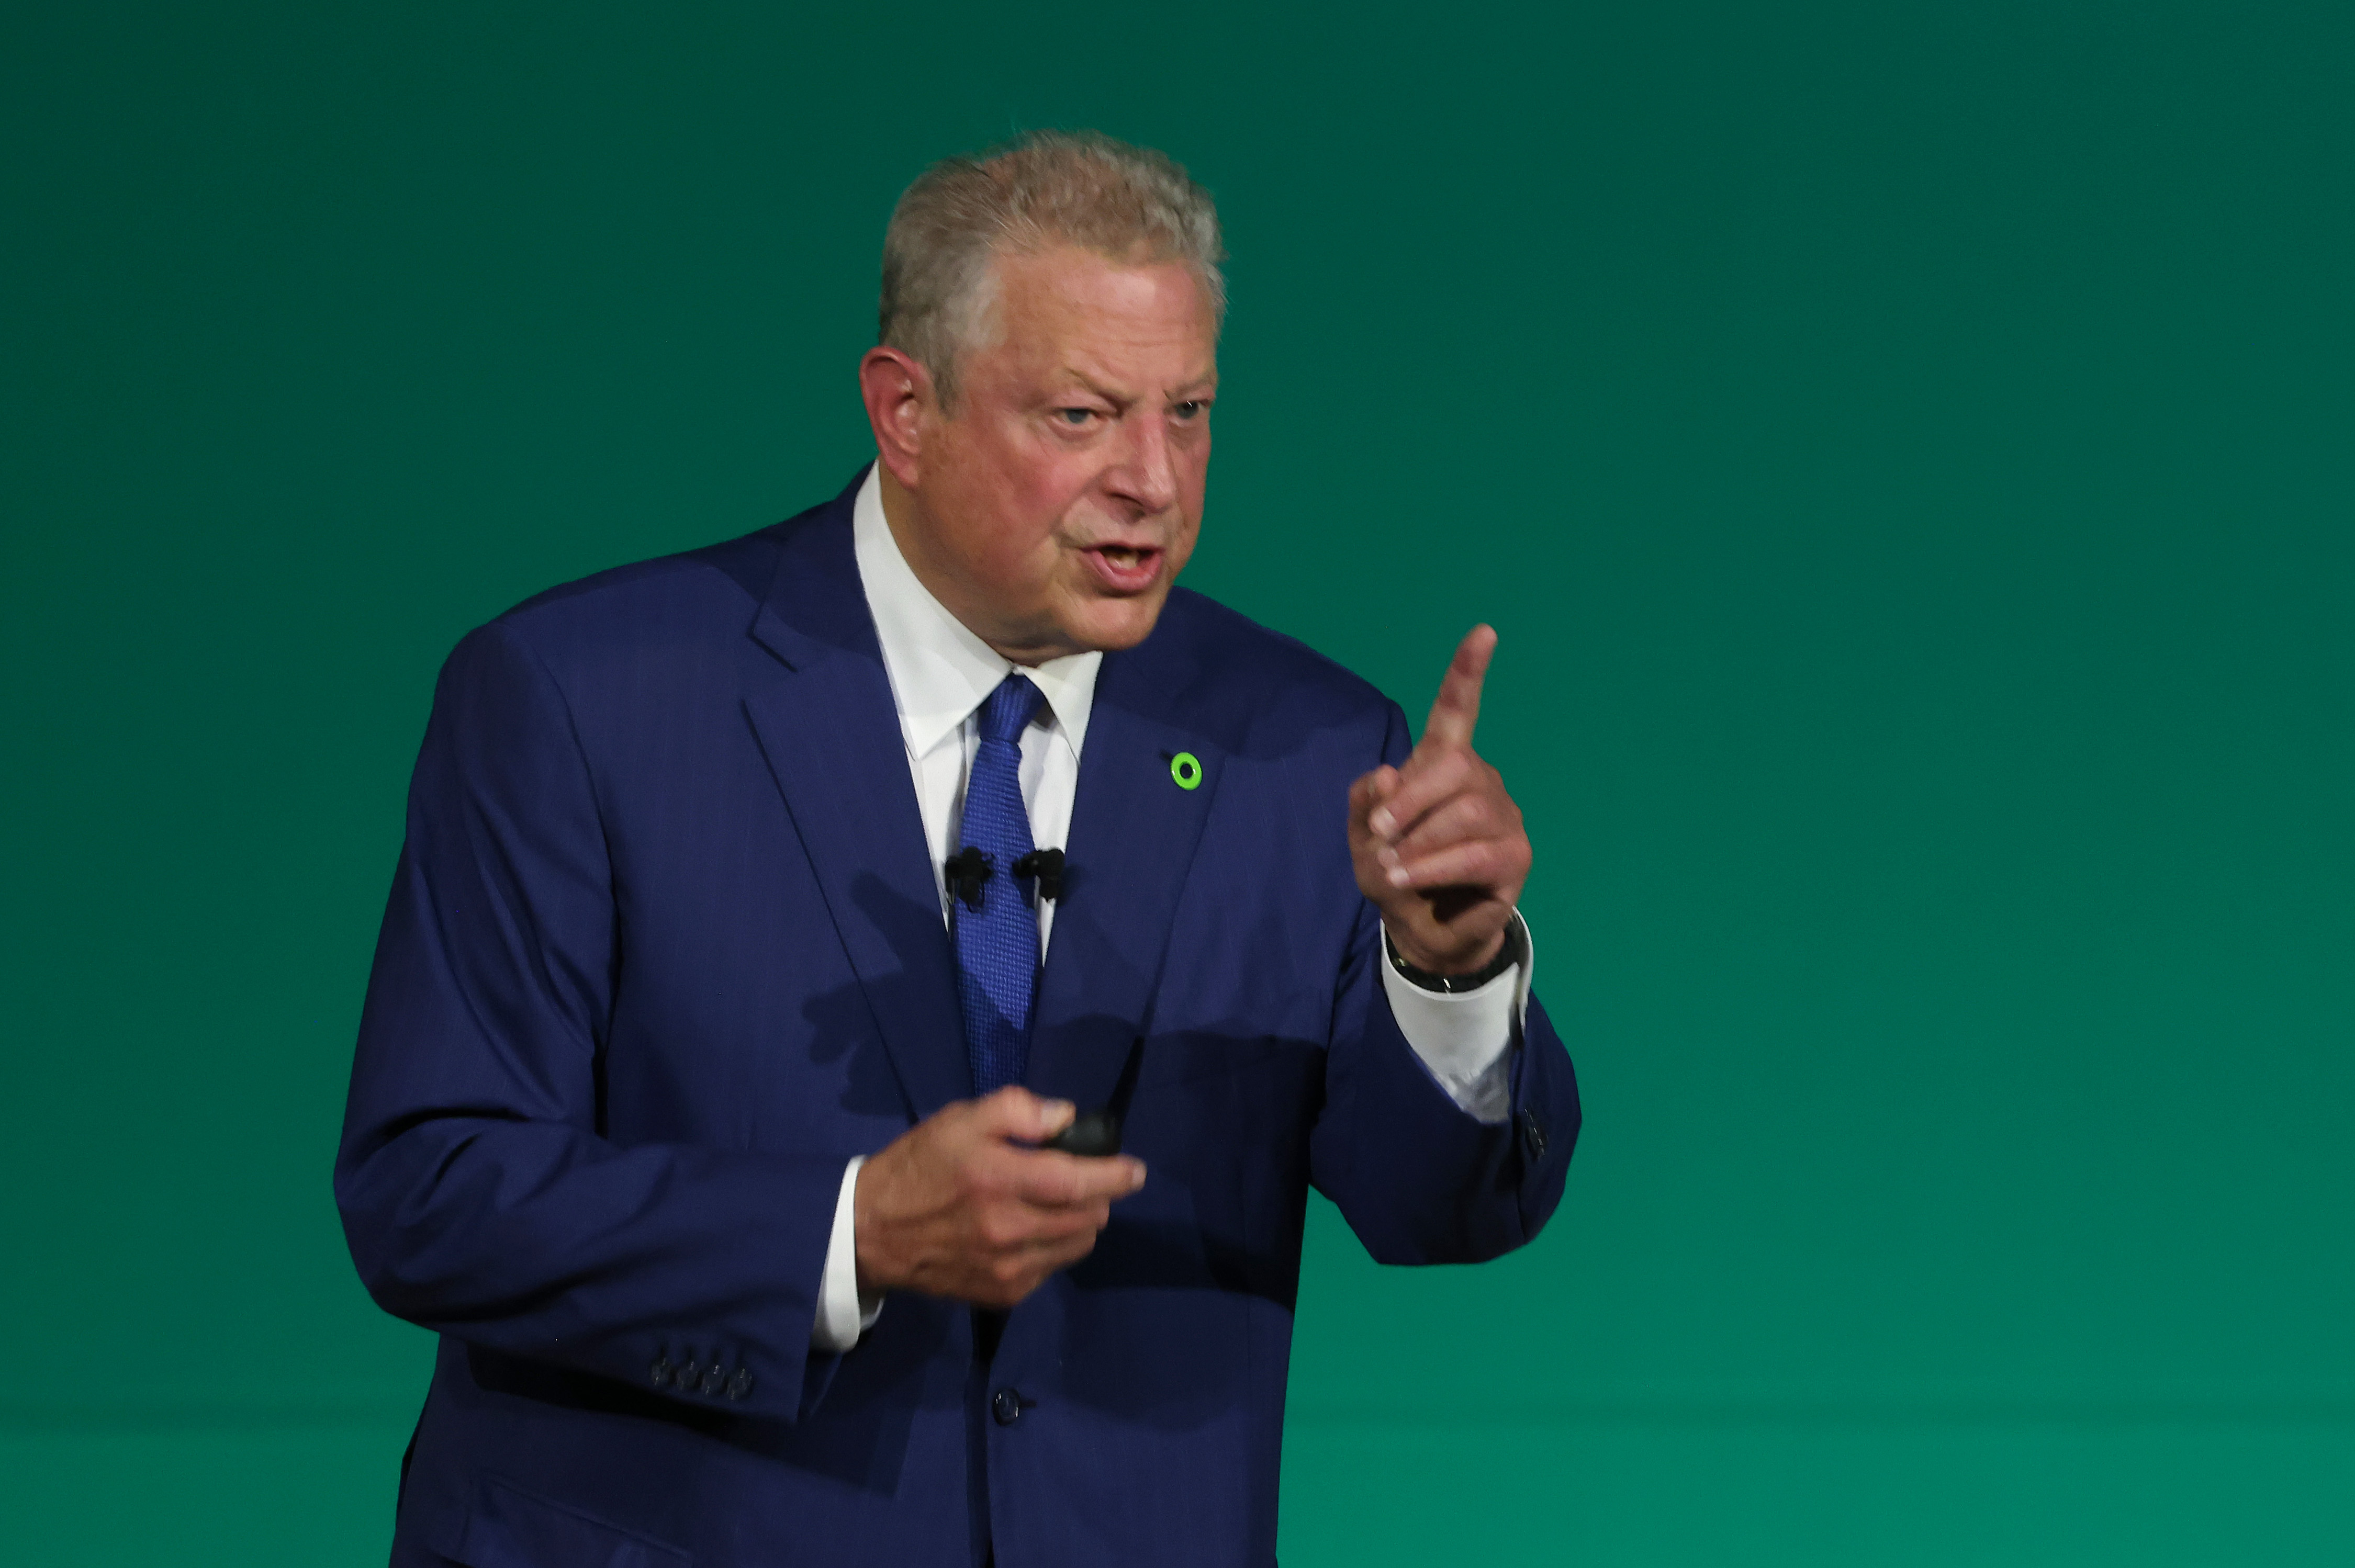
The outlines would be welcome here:
<svg viewBox="0 0 2355 1568">
<path fill-rule="evenodd" d="M 980 744 L 973 716 L 1015 666 L 973 636 L 916 579 L 883 518 L 878 469 L 869 469 L 867 483 L 860 485 L 850 527 L 860 584 L 867 589 L 867 610 L 883 643 L 883 669 L 890 673 L 893 704 L 900 709 L 900 737 L 907 742 L 923 836 L 933 852 L 940 918 L 947 923 L 949 888 L 942 862 L 956 845 L 966 775 Z M 1102 664 L 1104 655 L 1086 652 L 1022 671 L 1046 695 L 1046 706 L 1022 732 L 1022 803 L 1029 808 L 1031 843 L 1041 850 L 1060 848 L 1072 831 L 1079 751 L 1088 744 L 1088 711 L 1095 706 L 1095 671 Z M 1342 810 L 1342 803 L 1335 800 L 1333 810 Z M 1039 899 L 1041 961 L 1053 930 L 1055 902 Z M 1425 991 L 1382 963 L 1382 986 L 1389 994 L 1389 1012 L 1399 1019 L 1399 1034 L 1448 1097 L 1481 1121 L 1505 1121 L 1510 1111 L 1512 1041 L 1528 1010 L 1531 968 L 1533 961 L 1524 961 L 1477 991 L 1441 994 Z M 817 1349 L 827 1351 L 857 1344 L 883 1309 L 878 1300 L 860 1300 L 857 1288 L 853 1194 L 862 1163 L 864 1158 L 850 1161 L 841 1196 L 834 1201 L 834 1236 L 827 1243 L 817 1323 L 810 1333 Z"/>
</svg>

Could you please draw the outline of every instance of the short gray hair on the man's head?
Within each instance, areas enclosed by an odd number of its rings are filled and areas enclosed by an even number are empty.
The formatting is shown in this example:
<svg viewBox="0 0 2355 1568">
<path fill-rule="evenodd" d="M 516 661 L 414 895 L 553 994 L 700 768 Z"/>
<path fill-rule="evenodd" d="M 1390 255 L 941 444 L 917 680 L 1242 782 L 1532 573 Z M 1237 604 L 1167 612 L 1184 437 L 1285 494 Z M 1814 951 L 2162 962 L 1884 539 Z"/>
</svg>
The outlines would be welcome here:
<svg viewBox="0 0 2355 1568">
<path fill-rule="evenodd" d="M 991 261 L 1076 245 L 1116 261 L 1185 261 L 1227 318 L 1218 207 L 1163 153 L 1097 132 L 1031 132 L 916 177 L 883 231 L 881 337 L 956 407 L 956 356 L 996 304 Z"/>
</svg>

